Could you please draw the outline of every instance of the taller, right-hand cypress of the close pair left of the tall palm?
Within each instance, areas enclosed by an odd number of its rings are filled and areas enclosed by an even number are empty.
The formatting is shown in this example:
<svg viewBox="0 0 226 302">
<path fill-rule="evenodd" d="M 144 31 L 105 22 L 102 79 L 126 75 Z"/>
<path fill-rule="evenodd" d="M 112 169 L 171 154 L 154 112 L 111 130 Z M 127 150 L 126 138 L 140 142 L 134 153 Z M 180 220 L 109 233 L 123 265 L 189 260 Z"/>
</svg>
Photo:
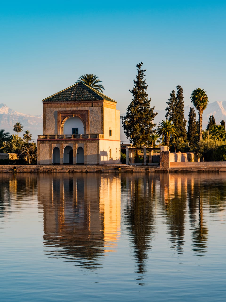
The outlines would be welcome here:
<svg viewBox="0 0 226 302">
<path fill-rule="evenodd" d="M 175 121 L 174 126 L 177 129 L 178 137 L 186 139 L 186 123 L 187 120 L 184 118 L 184 95 L 183 88 L 177 85 L 177 95 L 176 95 L 176 106 L 175 106 Z"/>
</svg>

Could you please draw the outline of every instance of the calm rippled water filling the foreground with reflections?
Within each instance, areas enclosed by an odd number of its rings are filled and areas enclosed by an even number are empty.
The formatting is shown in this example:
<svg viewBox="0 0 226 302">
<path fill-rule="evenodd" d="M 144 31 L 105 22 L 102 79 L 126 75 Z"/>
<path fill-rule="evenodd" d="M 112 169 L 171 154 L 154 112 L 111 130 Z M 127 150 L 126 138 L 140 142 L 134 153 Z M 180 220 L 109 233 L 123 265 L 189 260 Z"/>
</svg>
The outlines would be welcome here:
<svg viewBox="0 0 226 302">
<path fill-rule="evenodd" d="M 226 174 L 0 174 L 1 301 L 225 301 Z"/>
</svg>

